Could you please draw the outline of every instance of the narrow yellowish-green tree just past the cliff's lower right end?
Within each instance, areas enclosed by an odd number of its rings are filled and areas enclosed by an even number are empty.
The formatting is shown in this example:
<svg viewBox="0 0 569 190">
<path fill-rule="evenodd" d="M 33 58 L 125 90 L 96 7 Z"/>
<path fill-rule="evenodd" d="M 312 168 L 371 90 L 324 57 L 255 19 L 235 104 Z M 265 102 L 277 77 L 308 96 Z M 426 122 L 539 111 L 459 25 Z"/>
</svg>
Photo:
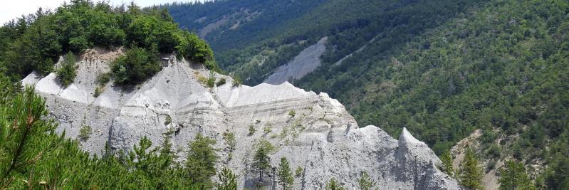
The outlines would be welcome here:
<svg viewBox="0 0 569 190">
<path fill-rule="evenodd" d="M 484 189 L 482 187 L 484 173 L 478 165 L 478 159 L 471 148 L 466 149 L 464 160 L 460 165 L 460 184 L 469 189 Z"/>
</svg>

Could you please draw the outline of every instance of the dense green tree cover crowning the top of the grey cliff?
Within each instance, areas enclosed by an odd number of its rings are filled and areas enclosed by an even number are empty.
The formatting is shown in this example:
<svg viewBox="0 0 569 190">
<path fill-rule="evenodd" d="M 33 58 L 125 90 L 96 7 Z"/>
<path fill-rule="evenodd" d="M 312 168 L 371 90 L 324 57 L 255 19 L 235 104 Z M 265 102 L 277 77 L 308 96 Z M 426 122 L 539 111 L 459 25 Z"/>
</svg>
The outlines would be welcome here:
<svg viewBox="0 0 569 190">
<path fill-rule="evenodd" d="M 159 53 L 177 53 L 220 71 L 209 45 L 189 31 L 178 28 L 166 9 L 141 9 L 136 4 L 110 6 L 88 0 L 73 0 L 55 11 L 39 9 L 36 14 L 21 16 L 0 28 L 0 70 L 19 80 L 35 70 L 40 75 L 53 71 L 59 57 L 71 52 L 80 54 L 94 46 L 103 48 L 135 48 L 139 55 L 150 56 L 137 63 L 119 63 L 126 72 L 116 73 L 120 80 L 141 82 L 160 68 Z M 131 53 L 132 54 L 132 53 Z M 65 66 L 65 64 L 63 65 Z M 73 67 L 57 70 L 62 83 L 73 82 Z M 71 81 L 70 81 L 71 80 Z"/>
</svg>

